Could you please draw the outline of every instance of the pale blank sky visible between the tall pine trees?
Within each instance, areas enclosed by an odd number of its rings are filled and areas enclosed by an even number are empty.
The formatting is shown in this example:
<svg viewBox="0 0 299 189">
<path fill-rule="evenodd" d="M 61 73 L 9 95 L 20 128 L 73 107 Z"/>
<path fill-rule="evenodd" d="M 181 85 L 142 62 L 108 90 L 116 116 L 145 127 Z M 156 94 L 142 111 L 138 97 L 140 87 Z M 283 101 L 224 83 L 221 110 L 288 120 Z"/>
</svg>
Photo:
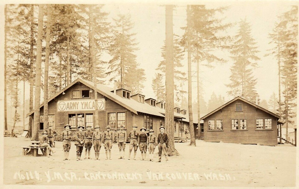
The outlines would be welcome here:
<svg viewBox="0 0 299 189">
<path fill-rule="evenodd" d="M 49 1 L 48 3 L 57 3 L 58 1 Z M 178 2 L 178 1 L 177 1 Z M 183 2 L 183 1 L 182 1 Z M 175 7 L 173 11 L 173 32 L 176 35 L 182 36 L 183 30 L 181 27 L 186 25 L 186 2 L 179 4 Z M 17 3 L 10 1 L 7 3 Z M 33 3 L 33 1 L 27 1 L 27 3 Z M 37 2 L 35 2 L 37 3 Z M 46 3 L 46 2 L 45 2 Z M 58 3 L 62 3 L 59 1 Z M 67 1 L 65 3 L 82 3 L 81 1 Z M 93 3 L 98 3 L 93 2 Z M 105 2 L 103 2 L 105 3 Z M 110 2 L 111 3 L 111 2 Z M 206 4 L 208 8 L 216 8 L 220 6 L 229 6 L 229 9 L 224 12 L 223 16 L 226 17 L 227 22 L 239 22 L 241 19 L 246 18 L 251 24 L 252 36 L 256 40 L 259 47 L 260 53 L 258 56 L 261 60 L 258 62 L 259 67 L 255 69 L 254 76 L 257 78 L 256 89 L 261 99 L 266 99 L 268 101 L 269 97 L 273 92 L 278 95 L 278 66 L 277 61 L 273 59 L 272 56 L 264 57 L 267 53 L 266 50 L 271 46 L 268 45 L 268 33 L 273 29 L 274 22 L 277 16 L 282 12 L 289 9 L 291 4 L 295 4 L 296 1 L 213 1 L 213 2 L 201 2 L 193 1 L 192 4 Z M 154 77 L 155 69 L 157 68 L 159 62 L 162 60 L 161 57 L 161 47 L 163 41 L 165 40 L 165 7 L 159 4 L 162 2 L 156 2 L 151 4 L 120 4 L 111 3 L 104 6 L 104 9 L 110 12 L 109 19 L 111 17 L 115 18 L 117 14 L 131 14 L 131 19 L 135 23 L 135 27 L 132 32 L 137 33 L 135 38 L 138 42 L 139 50 L 136 51 L 137 62 L 140 66 L 145 69 L 146 82 L 144 83 L 145 88 L 143 89 L 143 94 L 148 97 L 154 98 L 154 93 L 152 90 L 152 79 Z M 3 24 L 3 10 L 4 6 L 1 6 L 1 24 Z M 3 27 L 1 27 L 3 28 Z M 230 35 L 235 35 L 238 29 L 238 25 L 229 29 L 227 31 Z M 3 33 L 3 30 L 1 30 Z M 3 35 L 2 35 L 3 36 Z M 3 38 L 1 37 L 2 48 L 4 46 Z M 216 95 L 221 95 L 225 97 L 225 101 L 229 101 L 232 97 L 227 95 L 228 88 L 224 84 L 230 83 L 230 67 L 233 62 L 229 58 L 230 54 L 227 52 L 219 52 L 221 56 L 228 60 L 224 65 L 215 64 L 214 69 L 202 67 L 201 80 L 203 83 L 203 97 L 206 102 L 210 99 L 211 93 L 214 91 Z M 2 51 L 3 54 L 3 51 Z M 183 71 L 187 74 L 187 56 L 183 60 L 184 68 Z M 4 56 L 1 59 L 1 66 L 4 65 Z M 192 69 L 195 71 L 196 66 L 194 65 Z M 3 69 L 2 69 L 3 70 Z M 3 74 L 1 78 L 3 80 Z M 195 78 L 194 78 L 194 81 Z M 111 85 L 112 86 L 112 85 Z M 2 87 L 2 86 L 1 86 Z M 27 87 L 27 85 L 26 85 Z M 184 86 L 187 91 L 187 82 Z M 196 97 L 196 83 L 193 82 L 193 101 Z M 29 93 L 29 92 L 28 92 Z M 43 95 L 41 93 L 41 95 Z M 20 100 L 22 101 L 23 92 L 20 91 Z M 25 98 L 29 98 L 29 94 L 26 94 Z M 1 97 L 1 99 L 3 99 Z"/>
</svg>

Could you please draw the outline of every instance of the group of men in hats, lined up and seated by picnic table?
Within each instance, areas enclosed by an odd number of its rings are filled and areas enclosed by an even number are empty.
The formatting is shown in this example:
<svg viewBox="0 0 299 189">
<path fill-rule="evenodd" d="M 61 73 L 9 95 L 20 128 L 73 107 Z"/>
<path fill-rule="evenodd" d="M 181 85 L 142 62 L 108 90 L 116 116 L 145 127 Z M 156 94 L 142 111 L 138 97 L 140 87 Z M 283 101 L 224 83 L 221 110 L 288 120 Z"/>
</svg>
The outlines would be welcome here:
<svg viewBox="0 0 299 189">
<path fill-rule="evenodd" d="M 110 130 L 111 127 L 108 125 L 106 127 L 105 132 L 100 131 L 100 127 L 98 125 L 95 126 L 94 131 L 91 130 L 92 126 L 86 126 L 87 130 L 83 131 L 83 126 L 78 126 L 78 130 L 75 132 L 75 146 L 77 148 L 77 161 L 81 160 L 81 154 L 83 151 L 83 146 L 85 146 L 85 157 L 84 159 L 92 159 L 90 156 L 90 150 L 93 146 L 95 152 L 95 160 L 99 160 L 99 153 L 101 146 L 105 147 L 106 151 L 106 160 L 111 160 L 111 148 L 113 145 L 114 140 L 114 133 Z M 64 131 L 62 132 L 62 141 L 63 141 L 63 149 L 64 149 L 64 159 L 69 160 L 69 150 L 71 146 L 71 138 L 72 132 L 70 131 L 71 126 L 66 124 L 64 126 Z M 158 146 L 159 149 L 159 160 L 161 162 L 162 151 L 165 155 L 166 162 L 168 161 L 168 154 L 166 148 L 168 146 L 168 134 L 164 132 L 164 126 L 160 127 L 160 133 L 158 138 L 153 134 L 154 130 L 150 129 L 149 136 L 145 133 L 146 128 L 141 128 L 139 133 L 137 129 L 137 125 L 134 124 L 132 126 L 133 130 L 129 133 L 130 138 L 130 147 L 129 147 L 129 155 L 128 160 L 131 159 L 131 152 L 134 148 L 134 160 L 136 160 L 136 153 L 139 146 L 142 160 L 146 160 L 146 151 L 149 150 L 150 154 L 150 161 L 153 161 L 154 150 L 155 147 Z M 46 136 L 47 135 L 47 136 Z M 50 153 L 55 153 L 53 151 L 53 137 L 57 135 L 57 132 L 49 126 L 49 129 L 43 132 L 43 139 L 46 142 L 41 142 L 41 144 L 45 145 Z M 116 133 L 116 142 L 119 148 L 119 158 L 118 159 L 125 159 L 125 147 L 127 142 L 127 133 L 124 130 L 124 126 L 120 126 L 120 130 Z M 47 145 L 48 144 L 48 145 Z"/>
</svg>

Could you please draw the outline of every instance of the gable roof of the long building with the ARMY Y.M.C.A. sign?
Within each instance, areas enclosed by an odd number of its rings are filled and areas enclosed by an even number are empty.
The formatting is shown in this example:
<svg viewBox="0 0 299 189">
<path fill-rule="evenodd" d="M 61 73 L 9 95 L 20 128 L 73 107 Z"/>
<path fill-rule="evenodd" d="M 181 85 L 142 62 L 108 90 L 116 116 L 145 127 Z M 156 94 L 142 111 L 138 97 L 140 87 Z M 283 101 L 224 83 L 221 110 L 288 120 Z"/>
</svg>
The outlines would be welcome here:
<svg viewBox="0 0 299 189">
<path fill-rule="evenodd" d="M 78 78 L 75 81 L 73 81 L 72 83 L 70 83 L 67 87 L 65 87 L 64 89 L 62 89 L 61 91 L 57 92 L 54 96 L 50 97 L 48 99 L 48 102 L 53 100 L 55 97 L 57 97 L 58 95 L 60 95 L 61 93 L 63 93 L 65 90 L 69 89 L 70 87 L 72 87 L 75 83 L 80 82 L 83 83 L 84 85 L 88 86 L 89 88 L 92 88 L 93 90 L 95 90 L 93 82 L 85 80 L 85 79 L 81 79 Z M 112 92 L 111 92 L 112 91 Z M 130 98 L 123 98 L 118 96 L 117 94 L 113 93 L 113 88 L 110 87 L 106 87 L 104 85 L 101 84 L 97 84 L 97 92 L 102 94 L 104 97 L 107 97 L 108 99 L 115 101 L 116 103 L 118 103 L 119 105 L 125 107 L 126 109 L 130 110 L 131 112 L 135 113 L 136 115 L 138 115 L 138 112 L 140 113 L 145 113 L 145 114 L 150 114 L 150 115 L 156 115 L 156 116 L 160 116 L 160 117 L 165 117 L 163 114 L 165 114 L 165 110 L 161 109 L 159 107 L 156 106 L 151 106 L 147 103 L 140 103 L 138 101 L 135 101 L 134 99 Z M 40 105 L 40 108 L 43 107 L 44 104 L 42 103 Z M 31 112 L 29 112 L 26 117 L 28 117 L 29 115 L 33 114 L 34 110 L 32 110 Z M 185 118 L 185 116 L 180 115 L 178 113 L 174 112 L 174 116 L 175 117 L 179 117 L 179 118 Z"/>
</svg>

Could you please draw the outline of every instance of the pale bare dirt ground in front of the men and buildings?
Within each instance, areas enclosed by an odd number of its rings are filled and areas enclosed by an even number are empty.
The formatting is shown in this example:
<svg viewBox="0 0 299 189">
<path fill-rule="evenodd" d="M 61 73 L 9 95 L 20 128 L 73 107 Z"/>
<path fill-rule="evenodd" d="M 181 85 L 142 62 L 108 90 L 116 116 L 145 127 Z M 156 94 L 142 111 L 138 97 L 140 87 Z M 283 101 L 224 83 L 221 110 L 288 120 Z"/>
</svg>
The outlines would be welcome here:
<svg viewBox="0 0 299 189">
<path fill-rule="evenodd" d="M 180 156 L 168 157 L 165 163 L 119 160 L 118 147 L 112 146 L 112 160 L 105 160 L 105 149 L 100 159 L 76 161 L 76 146 L 72 142 L 69 161 L 63 161 L 62 142 L 50 158 L 23 156 L 22 146 L 30 139 L 4 138 L 4 184 L 17 185 L 72 185 L 123 187 L 295 187 L 296 148 L 288 145 L 257 146 L 212 143 L 197 140 L 197 146 L 175 143 Z M 39 152 L 41 154 L 41 152 Z M 133 152 L 132 152 L 133 155 Z M 149 156 L 148 156 L 149 157 Z M 147 158 L 148 158 L 147 157 Z"/>
</svg>

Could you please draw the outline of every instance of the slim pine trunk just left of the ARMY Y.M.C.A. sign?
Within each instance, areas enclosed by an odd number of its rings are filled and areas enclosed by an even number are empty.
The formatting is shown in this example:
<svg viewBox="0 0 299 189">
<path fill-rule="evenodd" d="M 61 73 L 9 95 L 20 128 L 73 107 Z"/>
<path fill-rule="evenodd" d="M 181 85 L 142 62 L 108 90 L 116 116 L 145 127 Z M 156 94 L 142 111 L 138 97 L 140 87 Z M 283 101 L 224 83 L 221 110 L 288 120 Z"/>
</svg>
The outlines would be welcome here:
<svg viewBox="0 0 299 189">
<path fill-rule="evenodd" d="M 52 5 L 47 5 L 47 29 L 45 52 L 45 77 L 44 77 L 44 128 L 48 128 L 48 80 L 49 80 L 49 56 L 50 56 L 50 27 Z"/>
</svg>

